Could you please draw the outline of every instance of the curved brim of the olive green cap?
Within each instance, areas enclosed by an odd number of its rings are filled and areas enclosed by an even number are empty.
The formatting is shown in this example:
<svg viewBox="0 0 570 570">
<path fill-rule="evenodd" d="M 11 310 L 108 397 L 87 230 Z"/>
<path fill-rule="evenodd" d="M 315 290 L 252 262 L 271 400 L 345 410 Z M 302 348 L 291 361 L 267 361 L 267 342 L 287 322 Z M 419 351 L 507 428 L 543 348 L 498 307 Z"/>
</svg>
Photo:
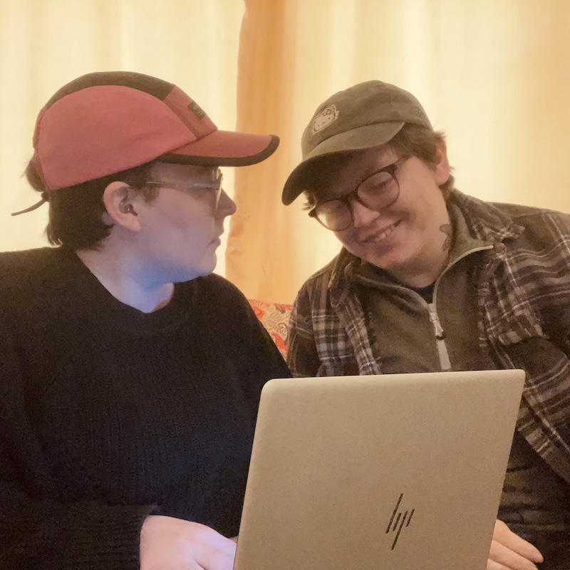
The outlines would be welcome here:
<svg viewBox="0 0 570 570">
<path fill-rule="evenodd" d="M 299 163 L 289 175 L 283 188 L 281 202 L 286 206 L 294 202 L 301 192 L 305 189 L 299 186 L 301 175 L 307 165 L 314 162 L 316 158 L 324 155 L 341 154 L 345 152 L 353 152 L 355 150 L 363 150 L 365 148 L 385 145 L 400 132 L 405 125 L 404 121 L 394 123 L 377 123 L 375 125 L 366 125 L 346 133 L 338 133 L 329 137 L 320 144 L 316 145 L 311 152 L 308 152 L 303 161 Z"/>
</svg>

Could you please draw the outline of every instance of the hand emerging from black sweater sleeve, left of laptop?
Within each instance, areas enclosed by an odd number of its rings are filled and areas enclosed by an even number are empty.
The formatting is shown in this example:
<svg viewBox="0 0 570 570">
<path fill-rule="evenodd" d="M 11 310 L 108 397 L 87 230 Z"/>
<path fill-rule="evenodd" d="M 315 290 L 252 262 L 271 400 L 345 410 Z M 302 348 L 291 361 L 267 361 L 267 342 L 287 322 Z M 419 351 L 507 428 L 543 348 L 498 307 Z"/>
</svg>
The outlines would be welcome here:
<svg viewBox="0 0 570 570">
<path fill-rule="evenodd" d="M 197 522 L 152 514 L 140 530 L 140 570 L 232 570 L 236 545 Z"/>
</svg>

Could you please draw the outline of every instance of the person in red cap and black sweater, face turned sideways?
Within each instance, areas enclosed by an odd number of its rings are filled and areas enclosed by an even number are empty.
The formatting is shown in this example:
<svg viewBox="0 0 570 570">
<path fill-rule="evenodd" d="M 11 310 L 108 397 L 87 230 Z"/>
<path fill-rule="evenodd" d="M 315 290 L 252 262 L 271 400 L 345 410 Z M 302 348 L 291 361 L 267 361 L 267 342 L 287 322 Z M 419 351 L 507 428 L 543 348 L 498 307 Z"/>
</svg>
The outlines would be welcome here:
<svg viewBox="0 0 570 570">
<path fill-rule="evenodd" d="M 57 247 L 0 254 L 1 568 L 232 568 L 261 387 L 289 370 L 212 274 L 219 167 L 278 143 L 138 73 L 41 110 L 25 211 L 48 202 Z"/>
</svg>

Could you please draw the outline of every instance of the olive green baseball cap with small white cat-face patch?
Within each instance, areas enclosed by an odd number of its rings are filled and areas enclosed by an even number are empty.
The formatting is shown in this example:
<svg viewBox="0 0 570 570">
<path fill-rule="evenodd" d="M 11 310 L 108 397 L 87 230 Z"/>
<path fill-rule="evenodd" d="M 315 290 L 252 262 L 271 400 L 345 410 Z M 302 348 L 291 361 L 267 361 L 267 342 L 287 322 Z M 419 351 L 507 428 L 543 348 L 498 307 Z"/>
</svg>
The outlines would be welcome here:
<svg viewBox="0 0 570 570">
<path fill-rule="evenodd" d="M 303 160 L 285 182 L 284 204 L 298 197 L 302 173 L 310 162 L 335 152 L 385 145 L 405 125 L 432 130 L 422 105 L 408 91 L 383 81 L 358 83 L 318 106 L 301 138 Z"/>
</svg>

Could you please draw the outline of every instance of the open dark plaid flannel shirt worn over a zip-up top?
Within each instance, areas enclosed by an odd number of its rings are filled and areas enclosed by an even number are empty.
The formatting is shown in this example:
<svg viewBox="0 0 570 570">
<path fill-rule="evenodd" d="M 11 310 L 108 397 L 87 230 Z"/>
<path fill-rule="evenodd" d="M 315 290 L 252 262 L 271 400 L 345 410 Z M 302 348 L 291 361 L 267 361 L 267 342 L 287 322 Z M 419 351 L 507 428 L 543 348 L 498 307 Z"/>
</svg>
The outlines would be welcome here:
<svg viewBox="0 0 570 570">
<path fill-rule="evenodd" d="M 482 202 L 457 190 L 449 200 L 472 236 L 494 246 L 477 284 L 477 340 L 499 367 L 527 371 L 517 429 L 570 483 L 570 216 Z M 343 249 L 299 291 L 287 353 L 295 376 L 382 373 L 351 287 L 355 261 Z M 517 347 L 537 338 L 547 349 L 526 366 Z"/>
</svg>

